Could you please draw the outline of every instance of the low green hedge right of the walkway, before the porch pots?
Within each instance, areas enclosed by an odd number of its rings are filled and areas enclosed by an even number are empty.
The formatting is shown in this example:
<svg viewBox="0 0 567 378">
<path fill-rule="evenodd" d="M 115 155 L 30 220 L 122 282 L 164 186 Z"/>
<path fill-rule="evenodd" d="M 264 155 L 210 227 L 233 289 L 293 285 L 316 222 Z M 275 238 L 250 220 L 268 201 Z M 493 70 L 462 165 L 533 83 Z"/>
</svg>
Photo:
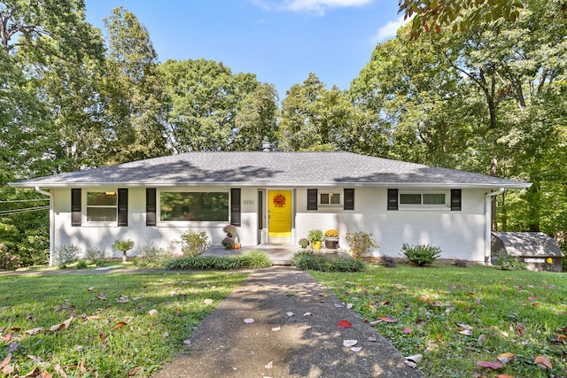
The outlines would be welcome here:
<svg viewBox="0 0 567 378">
<path fill-rule="evenodd" d="M 351 257 L 331 258 L 314 251 L 298 251 L 291 258 L 291 265 L 301 270 L 320 272 L 361 272 L 366 268 L 363 261 Z"/>
</svg>

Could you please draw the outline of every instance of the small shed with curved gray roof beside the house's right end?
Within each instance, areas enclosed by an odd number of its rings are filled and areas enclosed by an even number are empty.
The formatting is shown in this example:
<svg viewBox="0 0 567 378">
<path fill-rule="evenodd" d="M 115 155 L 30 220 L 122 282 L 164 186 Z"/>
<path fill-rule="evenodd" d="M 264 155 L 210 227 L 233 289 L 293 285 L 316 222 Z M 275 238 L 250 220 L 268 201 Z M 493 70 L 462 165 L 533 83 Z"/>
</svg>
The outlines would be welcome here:
<svg viewBox="0 0 567 378">
<path fill-rule="evenodd" d="M 542 232 L 496 232 L 492 233 L 491 252 L 496 257 L 504 251 L 523 261 L 535 272 L 561 272 L 563 252 L 555 239 Z"/>
</svg>

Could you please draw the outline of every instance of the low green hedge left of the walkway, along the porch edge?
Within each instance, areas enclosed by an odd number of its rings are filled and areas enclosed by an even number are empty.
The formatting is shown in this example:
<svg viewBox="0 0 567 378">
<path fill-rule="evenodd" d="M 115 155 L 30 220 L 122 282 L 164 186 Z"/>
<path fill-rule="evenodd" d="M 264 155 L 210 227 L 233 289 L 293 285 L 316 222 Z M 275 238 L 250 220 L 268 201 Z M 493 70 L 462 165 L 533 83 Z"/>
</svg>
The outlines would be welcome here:
<svg viewBox="0 0 567 378">
<path fill-rule="evenodd" d="M 243 255 L 191 256 L 175 258 L 164 266 L 169 270 L 228 270 L 258 269 L 272 266 L 272 260 L 262 250 L 253 250 Z"/>
</svg>

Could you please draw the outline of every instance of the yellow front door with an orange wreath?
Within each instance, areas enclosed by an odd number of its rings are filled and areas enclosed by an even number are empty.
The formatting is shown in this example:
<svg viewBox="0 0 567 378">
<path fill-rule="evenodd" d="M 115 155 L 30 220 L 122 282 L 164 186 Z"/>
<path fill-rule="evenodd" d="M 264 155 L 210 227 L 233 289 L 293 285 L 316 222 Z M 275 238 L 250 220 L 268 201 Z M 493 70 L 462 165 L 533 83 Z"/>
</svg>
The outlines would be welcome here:
<svg viewBox="0 0 567 378">
<path fill-rule="evenodd" d="M 268 194 L 268 243 L 291 243 L 291 191 Z"/>
</svg>

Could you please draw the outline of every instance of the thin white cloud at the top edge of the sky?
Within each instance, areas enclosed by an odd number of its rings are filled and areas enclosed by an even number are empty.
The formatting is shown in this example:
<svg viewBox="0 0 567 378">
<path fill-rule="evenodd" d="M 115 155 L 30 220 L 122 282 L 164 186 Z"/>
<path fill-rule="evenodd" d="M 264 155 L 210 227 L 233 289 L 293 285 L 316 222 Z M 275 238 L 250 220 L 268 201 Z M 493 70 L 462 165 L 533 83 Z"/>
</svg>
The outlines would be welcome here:
<svg viewBox="0 0 567 378">
<path fill-rule="evenodd" d="M 372 3 L 374 0 L 283 0 L 283 4 L 276 4 L 269 0 L 252 0 L 264 9 L 280 9 L 291 12 L 307 12 L 323 16 L 331 8 L 352 8 Z"/>
</svg>

